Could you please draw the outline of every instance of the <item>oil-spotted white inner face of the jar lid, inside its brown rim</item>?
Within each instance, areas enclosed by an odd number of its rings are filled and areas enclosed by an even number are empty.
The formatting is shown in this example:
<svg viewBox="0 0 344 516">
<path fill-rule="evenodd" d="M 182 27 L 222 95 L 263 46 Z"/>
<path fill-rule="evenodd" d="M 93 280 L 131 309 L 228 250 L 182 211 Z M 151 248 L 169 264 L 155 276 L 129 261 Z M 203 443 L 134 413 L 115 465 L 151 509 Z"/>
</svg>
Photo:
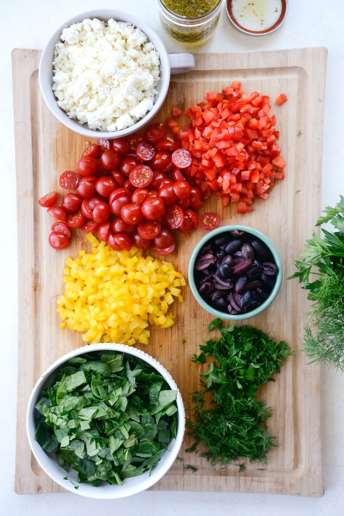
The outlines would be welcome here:
<svg viewBox="0 0 344 516">
<path fill-rule="evenodd" d="M 281 0 L 232 0 L 232 12 L 236 21 L 254 32 L 267 30 L 279 20 Z"/>
</svg>

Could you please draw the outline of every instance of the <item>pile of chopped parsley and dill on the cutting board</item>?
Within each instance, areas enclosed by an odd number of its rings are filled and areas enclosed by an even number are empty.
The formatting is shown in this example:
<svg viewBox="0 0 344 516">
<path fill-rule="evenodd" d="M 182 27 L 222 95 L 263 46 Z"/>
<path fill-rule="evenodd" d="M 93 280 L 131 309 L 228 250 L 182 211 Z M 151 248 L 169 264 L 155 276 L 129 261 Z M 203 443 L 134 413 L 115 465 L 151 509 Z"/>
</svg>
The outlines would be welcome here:
<svg viewBox="0 0 344 516">
<path fill-rule="evenodd" d="M 221 322 L 215 319 L 209 330 Z M 266 464 L 270 447 L 277 446 L 276 438 L 266 433 L 268 427 L 262 426 L 272 412 L 254 396 L 259 384 L 274 381 L 271 374 L 280 371 L 291 351 L 285 342 L 274 342 L 251 326 L 233 324 L 219 329 L 220 338 L 200 346 L 201 353 L 192 358 L 205 363 L 206 357 L 214 357 L 216 362 L 200 374 L 202 389 L 192 393 L 196 421 L 189 423 L 188 433 L 195 441 L 188 451 L 205 447 L 201 455 L 211 464 L 227 465 L 239 457 Z M 214 404 L 210 409 L 204 408 L 207 393 Z"/>
</svg>

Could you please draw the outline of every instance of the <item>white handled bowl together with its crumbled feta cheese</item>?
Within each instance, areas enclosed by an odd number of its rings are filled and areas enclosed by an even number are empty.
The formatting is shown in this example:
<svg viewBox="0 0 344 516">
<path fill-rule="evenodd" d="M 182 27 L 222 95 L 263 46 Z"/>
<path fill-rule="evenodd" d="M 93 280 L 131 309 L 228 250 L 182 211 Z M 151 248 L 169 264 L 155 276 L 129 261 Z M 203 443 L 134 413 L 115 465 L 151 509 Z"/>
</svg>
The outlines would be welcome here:
<svg viewBox="0 0 344 516">
<path fill-rule="evenodd" d="M 157 114 L 171 73 L 192 70 L 192 54 L 168 54 L 155 31 L 111 9 L 79 14 L 46 45 L 39 83 L 53 115 L 93 138 L 127 136 Z"/>
</svg>

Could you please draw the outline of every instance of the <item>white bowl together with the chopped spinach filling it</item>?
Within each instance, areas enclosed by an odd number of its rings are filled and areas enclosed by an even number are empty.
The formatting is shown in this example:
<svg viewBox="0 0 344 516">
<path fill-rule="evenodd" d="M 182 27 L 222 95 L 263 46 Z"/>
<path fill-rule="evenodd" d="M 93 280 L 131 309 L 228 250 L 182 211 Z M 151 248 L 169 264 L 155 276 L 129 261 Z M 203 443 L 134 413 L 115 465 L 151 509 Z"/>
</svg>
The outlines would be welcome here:
<svg viewBox="0 0 344 516">
<path fill-rule="evenodd" d="M 93 344 L 51 365 L 31 393 L 32 453 L 55 482 L 91 498 L 150 488 L 182 446 L 185 411 L 171 375 L 123 344 Z"/>
</svg>

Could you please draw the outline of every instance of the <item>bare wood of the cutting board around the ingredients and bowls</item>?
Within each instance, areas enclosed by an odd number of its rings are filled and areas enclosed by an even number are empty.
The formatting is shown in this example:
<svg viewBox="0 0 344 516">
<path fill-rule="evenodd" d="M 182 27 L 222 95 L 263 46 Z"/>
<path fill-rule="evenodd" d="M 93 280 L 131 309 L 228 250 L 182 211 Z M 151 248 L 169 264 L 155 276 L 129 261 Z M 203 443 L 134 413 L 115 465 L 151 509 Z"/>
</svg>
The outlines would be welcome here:
<svg viewBox="0 0 344 516">
<path fill-rule="evenodd" d="M 48 244 L 52 219 L 37 204 L 52 190 L 62 195 L 59 175 L 75 170 L 87 144 L 86 138 L 65 128 L 45 106 L 38 84 L 40 54 L 24 49 L 12 53 L 19 246 L 17 493 L 62 491 L 31 454 L 25 414 L 39 376 L 57 358 L 83 344 L 79 334 L 60 329 L 56 300 L 63 289 L 64 260 L 79 249 L 90 249 L 85 235 L 75 231 L 67 249 L 52 250 Z M 298 282 L 286 278 L 294 271 L 293 260 L 312 235 L 320 212 L 325 67 L 324 48 L 196 54 L 194 71 L 171 77 L 165 104 L 154 119 L 165 122 L 173 106 L 186 108 L 199 103 L 207 91 L 221 91 L 232 80 L 240 81 L 247 93 L 270 95 L 271 113 L 275 113 L 276 129 L 281 131 L 286 179 L 276 181 L 267 202 L 256 200 L 252 213 L 237 215 L 237 205 L 222 209 L 216 196 L 205 202 L 204 211 L 218 212 L 222 224 L 242 223 L 262 231 L 279 249 L 284 267 L 280 294 L 249 324 L 271 332 L 275 340 L 285 340 L 293 350 L 300 347 L 302 314 L 308 302 Z M 277 106 L 274 99 L 282 92 L 288 101 Z M 201 228 L 177 235 L 177 251 L 169 259 L 185 277 L 191 250 L 202 235 Z M 198 385 L 201 370 L 201 365 L 190 359 L 209 338 L 207 326 L 213 317 L 196 303 L 188 287 L 184 288 L 184 299 L 184 304 L 174 307 L 176 324 L 168 330 L 153 329 L 149 346 L 138 347 L 169 370 L 188 407 L 189 393 Z M 215 336 L 213 332 L 211 337 Z M 276 382 L 268 382 L 259 392 L 267 406 L 274 408 L 269 432 L 278 436 L 280 443 L 269 453 L 266 469 L 241 460 L 228 467 L 211 467 L 198 455 L 184 452 L 189 444 L 186 437 L 179 454 L 183 460 L 176 461 L 152 489 L 322 496 L 320 368 L 306 363 L 304 355 L 295 352 L 276 375 Z M 242 472 L 239 463 L 246 465 Z M 198 470 L 192 473 L 187 464 Z"/>
</svg>

